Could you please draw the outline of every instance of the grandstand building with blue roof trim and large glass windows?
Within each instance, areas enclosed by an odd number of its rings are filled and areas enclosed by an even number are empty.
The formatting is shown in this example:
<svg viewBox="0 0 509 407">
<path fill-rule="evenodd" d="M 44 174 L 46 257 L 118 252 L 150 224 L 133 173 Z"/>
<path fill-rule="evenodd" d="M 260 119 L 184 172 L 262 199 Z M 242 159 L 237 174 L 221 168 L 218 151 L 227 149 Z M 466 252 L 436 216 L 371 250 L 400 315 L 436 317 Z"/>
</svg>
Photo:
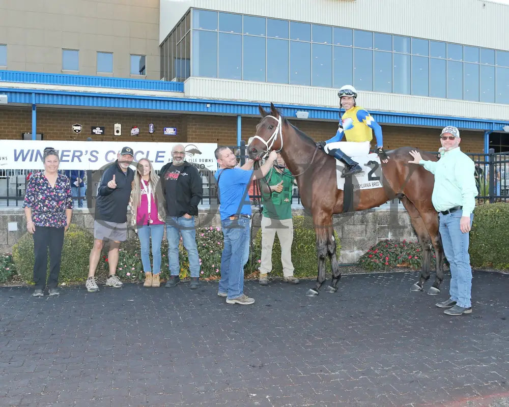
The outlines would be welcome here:
<svg viewBox="0 0 509 407">
<path fill-rule="evenodd" d="M 238 144 L 276 104 L 316 140 L 337 88 L 387 149 L 509 151 L 509 6 L 482 0 L 48 0 L 0 9 L 0 137 Z M 418 17 L 418 18 L 417 18 Z M 296 118 L 296 112 L 308 118 Z M 102 135 L 75 134 L 102 126 Z M 139 134 L 114 124 L 138 127 Z M 148 125 L 155 131 L 149 133 Z M 165 135 L 165 127 L 176 128 Z M 504 127 L 507 131 L 504 131 Z"/>
</svg>

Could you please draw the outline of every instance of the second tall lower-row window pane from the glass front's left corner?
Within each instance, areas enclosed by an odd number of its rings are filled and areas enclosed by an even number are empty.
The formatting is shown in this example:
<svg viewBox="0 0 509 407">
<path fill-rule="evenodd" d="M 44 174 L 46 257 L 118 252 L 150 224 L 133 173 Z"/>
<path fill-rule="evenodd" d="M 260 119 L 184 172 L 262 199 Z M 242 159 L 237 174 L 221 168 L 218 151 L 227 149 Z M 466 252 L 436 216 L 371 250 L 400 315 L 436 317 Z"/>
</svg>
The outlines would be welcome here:
<svg viewBox="0 0 509 407">
<path fill-rule="evenodd" d="M 218 78 L 242 79 L 242 36 L 219 33 Z"/>
</svg>

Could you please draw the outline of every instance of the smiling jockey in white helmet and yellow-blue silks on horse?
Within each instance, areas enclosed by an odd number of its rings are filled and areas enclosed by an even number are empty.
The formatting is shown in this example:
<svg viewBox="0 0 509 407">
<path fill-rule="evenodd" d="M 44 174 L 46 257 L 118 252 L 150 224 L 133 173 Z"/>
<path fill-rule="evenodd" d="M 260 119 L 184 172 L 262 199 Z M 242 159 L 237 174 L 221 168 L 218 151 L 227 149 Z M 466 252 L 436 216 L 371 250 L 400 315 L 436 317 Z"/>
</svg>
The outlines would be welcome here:
<svg viewBox="0 0 509 407">
<path fill-rule="evenodd" d="M 389 157 L 383 149 L 382 128 L 367 110 L 356 105 L 357 91 L 355 88 L 352 85 L 345 85 L 337 92 L 337 96 L 340 98 L 341 107 L 346 110 L 345 114 L 340 120 L 336 135 L 327 141 L 319 141 L 318 146 L 327 154 L 345 163 L 342 177 L 347 177 L 362 171 L 359 163 L 352 160 L 351 156 L 367 156 L 369 154 L 374 130 L 377 139 L 377 154 L 380 160 L 386 163 Z M 341 143 L 341 149 L 335 146 L 329 149 L 326 144 L 341 141 L 343 134 L 347 141 Z"/>
</svg>

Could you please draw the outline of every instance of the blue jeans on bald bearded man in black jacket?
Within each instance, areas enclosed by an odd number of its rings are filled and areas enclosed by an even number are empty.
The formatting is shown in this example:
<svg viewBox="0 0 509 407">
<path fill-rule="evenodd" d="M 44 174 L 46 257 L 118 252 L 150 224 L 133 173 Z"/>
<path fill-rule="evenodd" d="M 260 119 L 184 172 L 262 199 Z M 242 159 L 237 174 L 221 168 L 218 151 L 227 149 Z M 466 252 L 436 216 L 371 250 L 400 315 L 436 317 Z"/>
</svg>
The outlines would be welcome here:
<svg viewBox="0 0 509 407">
<path fill-rule="evenodd" d="M 189 257 L 189 270 L 191 277 L 200 277 L 200 256 L 196 247 L 196 229 L 194 227 L 194 216 L 186 219 L 183 216 L 166 217 L 166 238 L 168 239 L 168 261 L 169 274 L 178 276 L 180 274 L 179 263 L 179 242 L 182 236 L 182 243 L 187 250 Z"/>
</svg>

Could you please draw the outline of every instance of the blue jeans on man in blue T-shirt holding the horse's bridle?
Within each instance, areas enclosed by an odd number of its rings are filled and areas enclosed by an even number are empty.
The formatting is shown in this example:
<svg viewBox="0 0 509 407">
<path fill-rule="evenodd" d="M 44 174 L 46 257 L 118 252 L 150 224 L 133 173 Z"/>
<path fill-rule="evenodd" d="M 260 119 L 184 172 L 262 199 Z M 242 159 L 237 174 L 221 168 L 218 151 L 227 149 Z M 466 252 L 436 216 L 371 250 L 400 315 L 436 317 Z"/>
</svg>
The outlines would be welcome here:
<svg viewBox="0 0 509 407">
<path fill-rule="evenodd" d="M 222 220 L 224 249 L 221 255 L 219 292 L 228 293 L 228 299 L 244 294 L 244 265 L 249 257 L 248 218 Z"/>
</svg>

